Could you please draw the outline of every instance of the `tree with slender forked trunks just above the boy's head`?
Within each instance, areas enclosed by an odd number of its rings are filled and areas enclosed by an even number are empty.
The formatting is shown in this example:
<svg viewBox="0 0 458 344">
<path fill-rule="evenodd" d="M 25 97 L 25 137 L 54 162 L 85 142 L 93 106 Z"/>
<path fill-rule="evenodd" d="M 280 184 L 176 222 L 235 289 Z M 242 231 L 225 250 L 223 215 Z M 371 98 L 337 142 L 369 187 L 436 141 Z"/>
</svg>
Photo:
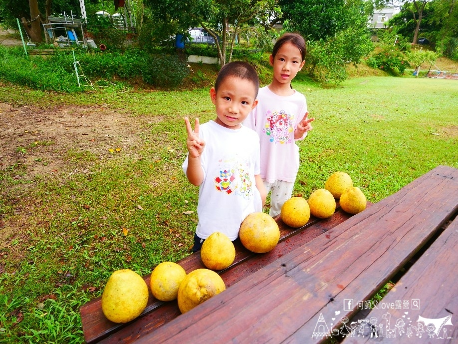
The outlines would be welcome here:
<svg viewBox="0 0 458 344">
<path fill-rule="evenodd" d="M 279 12 L 275 0 L 145 0 L 145 3 L 150 6 L 153 18 L 173 23 L 181 33 L 197 25 L 205 28 L 215 38 L 221 66 L 230 62 L 235 37 L 243 24 L 260 23 L 271 13 Z"/>
</svg>

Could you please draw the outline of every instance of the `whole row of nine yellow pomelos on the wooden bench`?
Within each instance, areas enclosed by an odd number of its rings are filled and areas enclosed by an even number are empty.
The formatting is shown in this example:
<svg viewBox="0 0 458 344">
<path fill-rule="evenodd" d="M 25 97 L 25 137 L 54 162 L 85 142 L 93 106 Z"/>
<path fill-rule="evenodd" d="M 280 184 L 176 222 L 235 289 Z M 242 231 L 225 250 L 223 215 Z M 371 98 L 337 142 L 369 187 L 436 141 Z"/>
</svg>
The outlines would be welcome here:
<svg viewBox="0 0 458 344">
<path fill-rule="evenodd" d="M 282 221 L 293 228 L 304 226 L 310 214 L 328 218 L 336 209 L 335 199 L 341 208 L 357 214 L 366 208 L 366 197 L 353 186 L 345 172 L 333 173 L 323 189 L 314 191 L 308 201 L 292 197 L 281 208 Z M 254 253 L 271 251 L 280 239 L 280 230 L 274 219 L 259 212 L 248 215 L 240 225 L 242 245 Z M 173 262 L 163 262 L 151 274 L 150 289 L 160 301 L 177 299 L 181 313 L 186 313 L 202 302 L 226 289 L 223 279 L 214 270 L 228 268 L 235 259 L 235 247 L 223 233 L 215 232 L 204 241 L 201 259 L 208 269 L 197 269 L 186 274 L 183 267 Z M 126 323 L 137 318 L 148 303 L 148 286 L 144 279 L 129 269 L 115 271 L 108 280 L 102 295 L 102 311 L 115 323 Z"/>
</svg>

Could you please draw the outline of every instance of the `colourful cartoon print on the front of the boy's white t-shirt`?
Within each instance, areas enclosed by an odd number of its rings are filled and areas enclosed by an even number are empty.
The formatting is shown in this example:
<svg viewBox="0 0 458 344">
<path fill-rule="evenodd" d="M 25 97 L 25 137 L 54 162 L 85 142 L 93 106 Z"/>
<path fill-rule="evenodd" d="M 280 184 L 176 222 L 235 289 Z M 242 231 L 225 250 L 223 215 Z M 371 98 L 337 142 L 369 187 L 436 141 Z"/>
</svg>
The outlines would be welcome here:
<svg viewBox="0 0 458 344">
<path fill-rule="evenodd" d="M 216 189 L 228 195 L 235 192 L 236 195 L 249 199 L 253 195 L 251 176 L 246 172 L 249 171 L 249 163 L 236 162 L 235 159 L 222 159 L 219 163 L 220 175 L 215 177 Z"/>
</svg>

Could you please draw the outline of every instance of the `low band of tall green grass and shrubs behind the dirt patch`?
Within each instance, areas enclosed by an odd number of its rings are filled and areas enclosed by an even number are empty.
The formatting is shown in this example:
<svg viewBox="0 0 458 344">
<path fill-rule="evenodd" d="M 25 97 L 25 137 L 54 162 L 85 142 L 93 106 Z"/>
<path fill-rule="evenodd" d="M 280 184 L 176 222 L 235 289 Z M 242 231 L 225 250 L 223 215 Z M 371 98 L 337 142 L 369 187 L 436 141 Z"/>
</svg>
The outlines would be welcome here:
<svg viewBox="0 0 458 344">
<path fill-rule="evenodd" d="M 78 73 L 88 78 L 135 80 L 143 78 L 145 83 L 157 87 L 180 85 L 189 74 L 187 63 L 178 55 L 148 54 L 139 49 L 125 53 L 97 52 L 88 54 L 75 50 L 79 62 Z M 0 79 L 40 90 L 78 92 L 71 51 L 56 50 L 48 59 L 30 59 L 19 47 L 0 46 Z M 82 84 L 84 85 L 83 80 Z"/>
</svg>

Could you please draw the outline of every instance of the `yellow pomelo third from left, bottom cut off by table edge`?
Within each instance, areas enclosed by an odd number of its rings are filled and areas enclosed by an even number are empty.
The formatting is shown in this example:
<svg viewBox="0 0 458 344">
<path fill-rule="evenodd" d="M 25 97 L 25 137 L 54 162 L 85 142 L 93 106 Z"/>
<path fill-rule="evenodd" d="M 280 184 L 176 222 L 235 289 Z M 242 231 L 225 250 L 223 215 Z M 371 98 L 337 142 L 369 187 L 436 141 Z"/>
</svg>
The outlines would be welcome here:
<svg viewBox="0 0 458 344">
<path fill-rule="evenodd" d="M 224 290 L 226 285 L 215 271 L 191 271 L 178 288 L 178 308 L 181 313 L 186 313 Z"/>
</svg>

